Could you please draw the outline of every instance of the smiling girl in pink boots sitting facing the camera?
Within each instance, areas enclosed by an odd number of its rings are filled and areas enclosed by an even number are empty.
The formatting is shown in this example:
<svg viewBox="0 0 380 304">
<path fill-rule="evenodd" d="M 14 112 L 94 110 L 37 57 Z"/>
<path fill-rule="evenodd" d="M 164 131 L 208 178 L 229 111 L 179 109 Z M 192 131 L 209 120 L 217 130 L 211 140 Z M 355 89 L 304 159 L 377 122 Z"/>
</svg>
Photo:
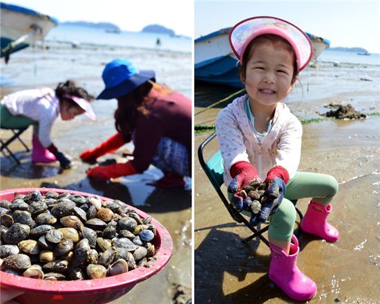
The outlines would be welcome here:
<svg viewBox="0 0 380 304">
<path fill-rule="evenodd" d="M 302 126 L 283 103 L 312 58 L 312 42 L 292 23 L 253 17 L 232 28 L 229 43 L 247 91 L 216 119 L 229 198 L 238 211 L 249 208 L 251 200 L 238 193 L 254 180 L 267 184 L 267 194 L 276 193 L 278 198 L 265 202 L 250 222 L 256 226 L 269 220 L 270 280 L 290 298 L 307 301 L 316 293 L 316 284 L 296 267 L 299 247 L 291 200 L 311 198 L 303 231 L 329 242 L 339 238 L 339 231 L 326 221 L 338 184 L 330 175 L 297 171 Z"/>
</svg>

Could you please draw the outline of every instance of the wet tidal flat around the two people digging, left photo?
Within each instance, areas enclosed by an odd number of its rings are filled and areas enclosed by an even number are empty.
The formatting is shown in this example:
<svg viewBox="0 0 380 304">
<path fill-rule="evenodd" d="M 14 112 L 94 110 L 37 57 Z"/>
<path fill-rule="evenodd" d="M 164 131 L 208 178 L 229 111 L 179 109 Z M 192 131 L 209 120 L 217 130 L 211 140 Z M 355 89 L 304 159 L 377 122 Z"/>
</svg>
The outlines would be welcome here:
<svg viewBox="0 0 380 304">
<path fill-rule="evenodd" d="M 75 79 L 90 93 L 97 95 L 104 85 L 100 75 L 106 62 L 116 57 L 129 58 L 136 66 L 152 68 L 158 82 L 164 82 L 190 97 L 191 55 L 164 53 L 138 49 L 50 48 L 46 53 L 23 50 L 11 56 L 8 66 L 2 66 L 2 74 L 13 80 L 13 85 L 1 89 L 6 95 L 35 86 L 55 88 L 57 82 Z M 149 58 L 149 60 L 146 60 Z M 149 62 L 151 61 L 151 62 Z M 149 65 L 151 64 L 151 65 Z M 37 74 L 33 72 L 37 66 Z M 23 70 L 25 73 L 16 73 Z M 57 120 L 52 138 L 58 149 L 73 158 L 73 168 L 62 171 L 58 164 L 33 164 L 30 152 L 22 153 L 23 146 L 13 142 L 10 147 L 21 157 L 21 165 L 1 155 L 1 189 L 23 187 L 57 187 L 93 193 L 119 199 L 149 213 L 167 228 L 173 239 L 173 256 L 169 264 L 157 275 L 133 287 L 131 292 L 112 303 L 185 303 L 191 301 L 191 191 L 184 189 L 157 189 L 146 185 L 162 176 L 162 172 L 151 166 L 144 174 L 112 180 L 94 182 L 86 171 L 94 164 L 80 160 L 79 153 L 96 146 L 115 133 L 113 113 L 115 100 L 99 100 L 93 103 L 97 122 L 76 117 L 71 122 Z M 1 138 L 9 137 L 10 131 L 1 130 Z M 21 138 L 31 147 L 32 128 Z M 120 161 L 124 152 L 133 146 L 127 144 L 116 153 L 102 156 L 99 163 Z"/>
</svg>

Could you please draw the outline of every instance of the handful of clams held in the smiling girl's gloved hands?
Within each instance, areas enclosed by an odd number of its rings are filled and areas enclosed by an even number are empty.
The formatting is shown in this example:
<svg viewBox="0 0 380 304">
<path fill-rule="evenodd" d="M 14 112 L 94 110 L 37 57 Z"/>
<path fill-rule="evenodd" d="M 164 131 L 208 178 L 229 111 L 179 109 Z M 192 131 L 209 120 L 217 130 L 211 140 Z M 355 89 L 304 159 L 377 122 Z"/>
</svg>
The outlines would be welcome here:
<svg viewBox="0 0 380 304">
<path fill-rule="evenodd" d="M 243 187 L 243 189 L 238 192 L 238 195 L 245 199 L 246 202 L 243 205 L 243 210 L 250 212 L 252 215 L 256 215 L 260 213 L 261 206 L 263 206 L 267 200 L 278 198 L 278 190 L 268 193 L 265 191 L 268 187 L 270 187 L 269 184 L 265 182 L 262 183 L 258 180 L 254 180 L 248 186 Z M 249 198 L 249 200 L 246 198 Z"/>
</svg>

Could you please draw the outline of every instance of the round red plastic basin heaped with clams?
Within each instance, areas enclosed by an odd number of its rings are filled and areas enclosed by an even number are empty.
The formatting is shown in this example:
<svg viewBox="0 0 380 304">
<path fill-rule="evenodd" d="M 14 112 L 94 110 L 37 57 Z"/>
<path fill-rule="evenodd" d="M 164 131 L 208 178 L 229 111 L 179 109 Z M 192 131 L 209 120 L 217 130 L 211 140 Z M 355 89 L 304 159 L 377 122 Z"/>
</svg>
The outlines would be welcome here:
<svg viewBox="0 0 380 304">
<path fill-rule="evenodd" d="M 24 292 L 19 303 L 108 303 L 171 258 L 167 229 L 120 200 L 23 188 L 0 204 L 0 284 Z"/>
</svg>

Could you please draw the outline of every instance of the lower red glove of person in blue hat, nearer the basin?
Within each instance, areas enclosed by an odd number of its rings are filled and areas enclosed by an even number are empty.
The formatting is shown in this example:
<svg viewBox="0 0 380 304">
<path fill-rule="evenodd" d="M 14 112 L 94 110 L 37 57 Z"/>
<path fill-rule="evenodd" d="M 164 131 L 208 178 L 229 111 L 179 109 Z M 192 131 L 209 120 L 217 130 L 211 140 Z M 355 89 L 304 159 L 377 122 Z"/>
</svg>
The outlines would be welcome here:
<svg viewBox="0 0 380 304">
<path fill-rule="evenodd" d="M 137 173 L 133 168 L 132 162 L 124 164 L 111 164 L 110 166 L 98 166 L 88 170 L 87 175 L 96 180 L 109 180 L 110 178 L 119 178 L 124 175 Z"/>
</svg>

